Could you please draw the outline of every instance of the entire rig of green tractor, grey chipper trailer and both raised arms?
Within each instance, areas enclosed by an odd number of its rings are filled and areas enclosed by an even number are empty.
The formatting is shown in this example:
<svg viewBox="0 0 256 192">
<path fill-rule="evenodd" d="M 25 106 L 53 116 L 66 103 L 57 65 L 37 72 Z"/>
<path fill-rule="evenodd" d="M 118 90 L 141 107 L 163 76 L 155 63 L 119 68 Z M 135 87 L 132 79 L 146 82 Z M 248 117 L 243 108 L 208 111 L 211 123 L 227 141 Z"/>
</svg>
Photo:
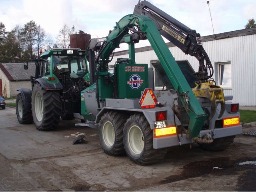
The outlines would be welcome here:
<svg viewBox="0 0 256 192">
<path fill-rule="evenodd" d="M 161 34 L 198 59 L 198 72 L 186 61 L 177 64 Z M 135 62 L 134 44 L 144 39 L 160 61 L 153 66 L 166 90 L 154 91 L 148 64 Z M 108 64 L 121 41 L 129 45 L 129 58 L 118 58 L 112 73 Z M 102 42 L 92 39 L 87 47 L 86 52 L 77 50 L 77 55 L 71 55 L 70 49 L 56 50 L 56 55 L 54 51 L 42 54 L 40 61 L 48 58 L 50 73 L 32 78 L 32 91 L 19 89 L 19 122 L 26 123 L 23 116 L 30 114 L 38 130 L 49 130 L 57 126 L 60 116 L 80 118 L 86 122 L 78 125 L 98 128 L 106 154 L 127 154 L 141 165 L 159 162 L 167 148 L 191 142 L 220 150 L 242 133 L 239 104 L 232 103 L 232 96 L 224 96 L 211 79 L 213 68 L 200 34 L 149 2 L 139 2 L 134 14 L 117 22 Z M 80 52 L 84 63 L 78 60 Z M 62 60 L 63 54 L 70 57 Z M 55 66 L 58 72 L 54 72 Z M 50 97 L 55 101 L 49 102 Z M 54 123 L 50 125 L 49 120 Z"/>
</svg>

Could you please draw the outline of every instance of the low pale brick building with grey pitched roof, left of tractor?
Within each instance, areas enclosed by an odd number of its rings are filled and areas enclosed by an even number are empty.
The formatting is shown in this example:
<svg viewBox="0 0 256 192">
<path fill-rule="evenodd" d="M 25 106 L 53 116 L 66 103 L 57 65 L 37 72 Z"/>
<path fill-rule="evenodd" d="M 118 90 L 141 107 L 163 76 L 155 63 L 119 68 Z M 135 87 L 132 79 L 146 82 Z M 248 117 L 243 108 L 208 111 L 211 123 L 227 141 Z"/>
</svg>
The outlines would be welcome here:
<svg viewBox="0 0 256 192">
<path fill-rule="evenodd" d="M 28 70 L 24 69 L 24 63 L 0 63 L 0 95 L 15 97 L 18 88 L 30 88 L 30 76 L 34 76 L 36 66 L 28 64 Z"/>
</svg>

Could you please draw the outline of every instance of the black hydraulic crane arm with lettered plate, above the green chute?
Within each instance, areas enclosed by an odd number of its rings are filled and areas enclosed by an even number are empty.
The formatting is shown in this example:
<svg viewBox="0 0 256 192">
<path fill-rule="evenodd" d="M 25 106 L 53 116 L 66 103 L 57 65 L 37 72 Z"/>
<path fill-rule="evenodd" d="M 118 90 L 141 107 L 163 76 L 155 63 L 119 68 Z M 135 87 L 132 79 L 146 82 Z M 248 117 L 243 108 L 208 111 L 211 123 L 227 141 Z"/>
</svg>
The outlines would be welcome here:
<svg viewBox="0 0 256 192">
<path fill-rule="evenodd" d="M 185 54 L 196 57 L 199 61 L 199 69 L 196 75 L 202 82 L 212 77 L 212 64 L 202 46 L 201 36 L 199 33 L 196 33 L 196 30 L 188 28 L 147 1 L 139 1 L 134 8 L 134 14 L 148 16 L 156 24 L 162 36 L 180 48 Z"/>
</svg>

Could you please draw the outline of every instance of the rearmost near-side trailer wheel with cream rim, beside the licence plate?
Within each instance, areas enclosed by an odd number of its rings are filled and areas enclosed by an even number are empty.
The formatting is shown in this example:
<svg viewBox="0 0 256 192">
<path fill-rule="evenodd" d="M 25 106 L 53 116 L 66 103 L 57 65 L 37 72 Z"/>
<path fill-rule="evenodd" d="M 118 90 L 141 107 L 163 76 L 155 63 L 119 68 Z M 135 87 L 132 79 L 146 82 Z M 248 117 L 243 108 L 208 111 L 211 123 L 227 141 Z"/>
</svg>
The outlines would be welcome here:
<svg viewBox="0 0 256 192">
<path fill-rule="evenodd" d="M 134 114 L 124 125 L 124 149 L 137 164 L 147 165 L 160 162 L 166 149 L 153 148 L 153 130 L 143 114 Z"/>
</svg>

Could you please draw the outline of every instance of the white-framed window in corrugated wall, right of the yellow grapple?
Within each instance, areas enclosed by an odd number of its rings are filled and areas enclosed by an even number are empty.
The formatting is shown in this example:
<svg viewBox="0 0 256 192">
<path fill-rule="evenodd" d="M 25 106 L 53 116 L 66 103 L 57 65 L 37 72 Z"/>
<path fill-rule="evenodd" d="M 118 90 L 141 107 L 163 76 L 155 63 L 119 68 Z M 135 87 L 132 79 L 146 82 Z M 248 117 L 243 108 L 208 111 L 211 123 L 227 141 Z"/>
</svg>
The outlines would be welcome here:
<svg viewBox="0 0 256 192">
<path fill-rule="evenodd" d="M 218 82 L 220 86 L 232 87 L 232 74 L 230 62 L 218 63 Z"/>
</svg>

